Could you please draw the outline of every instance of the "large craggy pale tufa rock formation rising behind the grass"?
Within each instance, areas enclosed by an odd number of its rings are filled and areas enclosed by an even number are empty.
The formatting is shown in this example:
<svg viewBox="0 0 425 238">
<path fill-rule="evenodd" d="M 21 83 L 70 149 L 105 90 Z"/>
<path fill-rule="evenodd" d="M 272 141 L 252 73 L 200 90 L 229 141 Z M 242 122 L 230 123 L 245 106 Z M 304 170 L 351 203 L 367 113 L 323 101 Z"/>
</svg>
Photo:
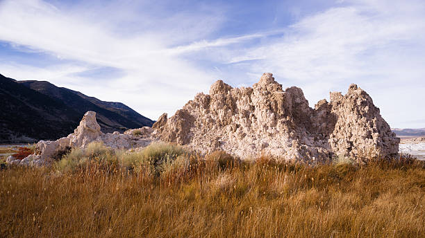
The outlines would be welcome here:
<svg viewBox="0 0 425 238">
<path fill-rule="evenodd" d="M 331 93 L 331 102 L 321 100 L 312 109 L 301 89 L 283 90 L 272 73 L 264 73 L 252 88 L 233 89 L 218 80 L 209 95 L 197 94 L 171 118 L 163 114 L 153 128 L 160 140 L 241 158 L 363 160 L 395 156 L 399 149 L 399 138 L 356 84 L 346 95 Z"/>
</svg>

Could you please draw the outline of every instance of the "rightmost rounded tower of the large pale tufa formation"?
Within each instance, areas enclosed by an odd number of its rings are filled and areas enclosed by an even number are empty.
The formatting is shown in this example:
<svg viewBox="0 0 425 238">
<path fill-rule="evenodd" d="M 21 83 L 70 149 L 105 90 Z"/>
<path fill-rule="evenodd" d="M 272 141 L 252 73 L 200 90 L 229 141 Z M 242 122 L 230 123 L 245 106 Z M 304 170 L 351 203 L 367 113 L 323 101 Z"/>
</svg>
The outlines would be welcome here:
<svg viewBox="0 0 425 238">
<path fill-rule="evenodd" d="M 337 120 L 329 143 L 337 155 L 365 159 L 394 156 L 400 139 L 381 117 L 372 98 L 356 84 L 346 95 L 333 97 L 331 113 Z"/>
</svg>

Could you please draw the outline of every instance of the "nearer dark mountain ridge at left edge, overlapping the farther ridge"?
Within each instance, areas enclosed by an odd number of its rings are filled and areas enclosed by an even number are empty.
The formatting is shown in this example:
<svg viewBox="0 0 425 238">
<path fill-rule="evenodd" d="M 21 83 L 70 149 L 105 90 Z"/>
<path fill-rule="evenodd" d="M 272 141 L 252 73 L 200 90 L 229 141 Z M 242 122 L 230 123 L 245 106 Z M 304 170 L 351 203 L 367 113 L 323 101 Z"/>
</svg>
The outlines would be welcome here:
<svg viewBox="0 0 425 238">
<path fill-rule="evenodd" d="M 0 75 L 0 143 L 59 138 L 73 131 L 79 113 L 59 100 Z"/>
</svg>

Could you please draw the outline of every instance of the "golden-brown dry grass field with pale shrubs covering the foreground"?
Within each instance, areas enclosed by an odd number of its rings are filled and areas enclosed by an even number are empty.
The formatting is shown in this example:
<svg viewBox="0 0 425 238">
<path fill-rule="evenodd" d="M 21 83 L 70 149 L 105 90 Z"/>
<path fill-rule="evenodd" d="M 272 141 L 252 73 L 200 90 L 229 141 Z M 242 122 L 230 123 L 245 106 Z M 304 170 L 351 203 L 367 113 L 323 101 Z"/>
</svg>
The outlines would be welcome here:
<svg viewBox="0 0 425 238">
<path fill-rule="evenodd" d="M 1 170 L 0 201 L 0 237 L 425 234 L 425 169 L 410 159 L 306 166 L 92 145 L 51 168 Z"/>
</svg>

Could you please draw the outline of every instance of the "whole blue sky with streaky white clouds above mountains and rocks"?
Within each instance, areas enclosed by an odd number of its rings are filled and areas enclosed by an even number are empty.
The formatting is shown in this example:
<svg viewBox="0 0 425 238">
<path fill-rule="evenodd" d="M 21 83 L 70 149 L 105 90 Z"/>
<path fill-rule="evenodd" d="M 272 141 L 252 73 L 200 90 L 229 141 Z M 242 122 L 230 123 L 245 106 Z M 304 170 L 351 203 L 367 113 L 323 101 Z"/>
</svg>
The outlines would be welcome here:
<svg viewBox="0 0 425 238">
<path fill-rule="evenodd" d="M 265 72 L 310 107 L 358 84 L 391 127 L 425 127 L 425 1 L 0 0 L 0 73 L 156 120 L 216 80 Z"/>
</svg>

